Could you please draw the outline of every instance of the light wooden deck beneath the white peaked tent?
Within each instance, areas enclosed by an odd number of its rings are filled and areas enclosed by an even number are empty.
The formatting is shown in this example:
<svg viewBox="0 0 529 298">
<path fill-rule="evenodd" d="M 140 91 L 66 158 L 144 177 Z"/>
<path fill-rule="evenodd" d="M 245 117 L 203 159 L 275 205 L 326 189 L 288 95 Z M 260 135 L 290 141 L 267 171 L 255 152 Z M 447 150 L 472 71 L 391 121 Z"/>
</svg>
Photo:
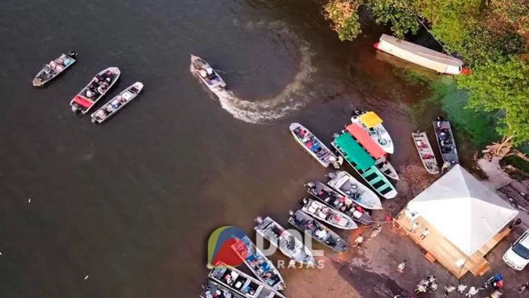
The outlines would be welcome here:
<svg viewBox="0 0 529 298">
<path fill-rule="evenodd" d="M 485 259 L 485 254 L 490 252 L 501 239 L 505 238 L 511 232 L 511 230 L 506 228 L 499 234 L 494 235 L 483 247 L 469 257 L 437 232 L 434 227 L 430 226 L 422 216 L 416 218 L 414 222 L 418 222 L 420 226 L 415 233 L 412 233 L 412 222 L 410 218 L 405 216 L 404 212 L 401 212 L 393 221 L 396 227 L 401 229 L 415 243 L 426 250 L 425 258 L 428 261 L 432 263 L 438 261 L 458 279 L 461 279 L 469 271 L 474 276 L 481 276 L 485 272 L 488 272 L 490 267 L 488 261 Z M 428 228 L 430 234 L 421 240 L 419 237 L 425 227 Z"/>
</svg>

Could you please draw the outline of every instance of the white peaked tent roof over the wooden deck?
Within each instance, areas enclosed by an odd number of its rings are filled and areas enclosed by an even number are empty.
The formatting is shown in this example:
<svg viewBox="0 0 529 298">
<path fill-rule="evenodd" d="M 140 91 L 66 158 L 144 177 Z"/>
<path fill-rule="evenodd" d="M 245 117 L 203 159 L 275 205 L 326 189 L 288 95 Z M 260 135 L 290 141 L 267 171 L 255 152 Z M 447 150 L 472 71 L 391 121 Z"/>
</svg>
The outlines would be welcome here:
<svg viewBox="0 0 529 298">
<path fill-rule="evenodd" d="M 461 252 L 471 256 L 518 211 L 456 165 L 407 205 Z"/>
</svg>

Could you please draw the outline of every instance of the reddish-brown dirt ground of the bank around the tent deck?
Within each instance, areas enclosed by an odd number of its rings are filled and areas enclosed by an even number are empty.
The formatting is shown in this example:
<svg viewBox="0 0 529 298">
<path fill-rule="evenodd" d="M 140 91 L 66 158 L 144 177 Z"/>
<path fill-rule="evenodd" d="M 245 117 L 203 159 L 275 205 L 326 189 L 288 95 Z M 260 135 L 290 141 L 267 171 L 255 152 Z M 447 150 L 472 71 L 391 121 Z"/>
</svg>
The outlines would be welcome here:
<svg viewBox="0 0 529 298">
<path fill-rule="evenodd" d="M 436 180 L 435 176 L 425 174 L 419 166 L 407 166 L 399 172 L 402 178 L 398 183 L 398 198 L 401 199 L 385 201 L 384 210 L 373 212 L 376 221 L 384 221 L 388 214 L 396 215 L 408 200 Z M 416 284 L 430 274 L 436 276 L 439 288 L 421 297 L 443 297 L 445 285 L 453 283 L 457 286 L 459 281 L 456 277 L 439 263 L 427 261 L 424 257 L 425 252 L 412 239 L 401 234 L 391 222 L 381 224 L 383 225 L 381 234 L 371 241 L 367 241 L 367 238 L 371 234 L 372 227 L 361 227 L 348 235 L 350 243 L 354 242 L 359 233 L 365 236 L 363 245 L 360 248 L 353 248 L 350 253 L 334 254 L 325 250 L 325 268 L 296 270 L 288 274 L 288 288 L 285 295 L 292 298 L 382 298 L 394 297 L 394 295 L 406 297 L 405 295 L 411 296 Z M 501 257 L 510 243 L 513 243 L 524 230 L 524 227 L 515 227 L 507 239 L 501 241 L 485 256 L 490 263 L 490 272 L 485 273 L 483 277 L 474 277 L 468 273 L 461 281 L 467 284 L 468 288 L 471 286 L 478 288 L 493 274 L 501 273 L 505 282 L 502 297 L 518 297 L 517 289 L 529 280 L 525 273 L 528 269 L 516 272 L 503 263 Z M 404 259 L 407 260 L 407 265 L 401 273 L 396 267 Z M 474 297 L 489 297 L 490 294 L 490 291 L 482 290 Z M 456 293 L 452 293 L 452 296 L 459 297 Z"/>
</svg>

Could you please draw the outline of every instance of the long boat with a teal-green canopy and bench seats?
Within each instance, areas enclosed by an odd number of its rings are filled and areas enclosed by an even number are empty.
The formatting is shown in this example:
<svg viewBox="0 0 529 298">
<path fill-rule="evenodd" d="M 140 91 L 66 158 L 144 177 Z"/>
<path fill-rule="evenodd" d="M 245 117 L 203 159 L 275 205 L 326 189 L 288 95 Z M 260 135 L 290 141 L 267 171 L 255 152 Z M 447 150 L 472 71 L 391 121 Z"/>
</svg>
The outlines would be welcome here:
<svg viewBox="0 0 529 298">
<path fill-rule="evenodd" d="M 355 169 L 365 182 L 369 184 L 376 193 L 384 198 L 394 198 L 397 195 L 395 187 L 387 180 L 382 172 L 376 167 L 375 160 L 363 149 L 362 146 L 349 135 L 342 133 L 331 142 L 331 145 L 340 153 L 349 165 Z M 330 185 L 332 186 L 332 185 Z M 336 189 L 336 188 L 335 188 Z M 380 204 L 360 205 L 367 209 L 382 209 Z"/>
</svg>

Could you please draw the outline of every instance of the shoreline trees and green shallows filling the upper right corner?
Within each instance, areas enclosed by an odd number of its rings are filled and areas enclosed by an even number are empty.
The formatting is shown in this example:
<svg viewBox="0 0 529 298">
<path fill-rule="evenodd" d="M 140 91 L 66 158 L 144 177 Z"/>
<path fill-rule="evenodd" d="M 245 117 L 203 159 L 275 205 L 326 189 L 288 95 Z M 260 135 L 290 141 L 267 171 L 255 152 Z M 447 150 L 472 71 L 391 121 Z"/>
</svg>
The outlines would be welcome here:
<svg viewBox="0 0 529 298">
<path fill-rule="evenodd" d="M 462 59 L 468 75 L 405 75 L 430 85 L 425 102 L 438 103 L 474 150 L 529 171 L 529 0 L 329 0 L 323 15 L 350 41 L 362 32 L 363 9 L 398 39 L 427 28 L 445 53 Z"/>
</svg>

